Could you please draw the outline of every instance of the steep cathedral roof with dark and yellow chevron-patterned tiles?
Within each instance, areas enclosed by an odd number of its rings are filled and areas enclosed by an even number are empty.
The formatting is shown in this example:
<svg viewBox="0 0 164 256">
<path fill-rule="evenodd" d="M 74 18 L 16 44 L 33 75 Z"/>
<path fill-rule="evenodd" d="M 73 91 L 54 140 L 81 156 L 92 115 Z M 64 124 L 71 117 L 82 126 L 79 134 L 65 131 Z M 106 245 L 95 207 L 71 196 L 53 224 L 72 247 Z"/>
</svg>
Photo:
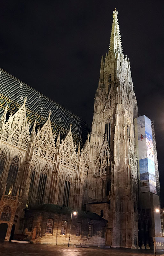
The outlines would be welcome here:
<svg viewBox="0 0 164 256">
<path fill-rule="evenodd" d="M 29 122 L 34 123 L 36 119 L 37 125 L 43 124 L 51 110 L 53 133 L 57 135 L 60 132 L 64 135 L 69 129 L 69 124 L 72 123 L 74 143 L 85 142 L 89 127 L 84 120 L 0 69 L 0 116 L 6 104 L 9 105 L 9 110 L 15 113 L 23 104 L 25 96 L 27 96 L 26 114 Z"/>
</svg>

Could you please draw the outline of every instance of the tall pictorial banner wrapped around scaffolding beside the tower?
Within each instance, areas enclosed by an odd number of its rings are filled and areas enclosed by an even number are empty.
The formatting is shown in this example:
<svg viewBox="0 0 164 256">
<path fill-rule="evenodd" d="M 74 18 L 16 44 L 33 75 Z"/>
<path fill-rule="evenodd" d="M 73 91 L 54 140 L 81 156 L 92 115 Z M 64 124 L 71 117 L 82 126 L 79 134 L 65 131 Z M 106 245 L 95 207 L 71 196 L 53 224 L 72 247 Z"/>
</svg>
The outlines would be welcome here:
<svg viewBox="0 0 164 256">
<path fill-rule="evenodd" d="M 147 116 L 135 118 L 135 140 L 140 174 L 140 192 L 156 192 L 154 151 L 151 120 Z"/>
</svg>

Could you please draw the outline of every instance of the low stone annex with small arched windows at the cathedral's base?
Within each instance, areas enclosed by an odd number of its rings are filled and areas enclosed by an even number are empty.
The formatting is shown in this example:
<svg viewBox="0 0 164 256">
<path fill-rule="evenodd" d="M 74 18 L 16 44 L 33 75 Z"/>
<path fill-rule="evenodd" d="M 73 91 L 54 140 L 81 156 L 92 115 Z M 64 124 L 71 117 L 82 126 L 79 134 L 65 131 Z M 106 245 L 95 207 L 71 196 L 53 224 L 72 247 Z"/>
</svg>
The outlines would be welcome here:
<svg viewBox="0 0 164 256">
<path fill-rule="evenodd" d="M 26 210 L 24 233 L 32 243 L 67 245 L 71 211 L 51 204 L 43 205 L 39 210 L 37 207 Z M 72 214 L 70 245 L 105 246 L 106 223 L 95 213 L 77 211 L 76 216 Z"/>
</svg>

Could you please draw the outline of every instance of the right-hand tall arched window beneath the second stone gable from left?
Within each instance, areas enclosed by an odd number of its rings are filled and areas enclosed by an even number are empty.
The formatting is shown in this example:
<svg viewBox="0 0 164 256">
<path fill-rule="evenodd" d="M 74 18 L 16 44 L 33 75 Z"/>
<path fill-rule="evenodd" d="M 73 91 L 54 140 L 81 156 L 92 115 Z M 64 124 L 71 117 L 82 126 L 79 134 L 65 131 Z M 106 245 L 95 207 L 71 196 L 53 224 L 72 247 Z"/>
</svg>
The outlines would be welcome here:
<svg viewBox="0 0 164 256">
<path fill-rule="evenodd" d="M 43 204 L 44 195 L 45 195 L 45 187 L 47 182 L 47 174 L 48 174 L 48 168 L 45 165 L 41 169 L 40 179 L 39 179 L 39 186 L 38 186 L 38 198 L 37 198 L 37 204 Z"/>
</svg>

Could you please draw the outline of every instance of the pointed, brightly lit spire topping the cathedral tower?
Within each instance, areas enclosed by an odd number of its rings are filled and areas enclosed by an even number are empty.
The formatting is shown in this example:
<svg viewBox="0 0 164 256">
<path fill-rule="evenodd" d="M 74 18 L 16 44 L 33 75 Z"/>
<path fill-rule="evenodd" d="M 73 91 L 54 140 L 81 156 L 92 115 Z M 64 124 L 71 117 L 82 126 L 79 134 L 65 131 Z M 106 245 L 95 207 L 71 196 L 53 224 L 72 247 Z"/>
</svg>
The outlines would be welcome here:
<svg viewBox="0 0 164 256">
<path fill-rule="evenodd" d="M 116 8 L 115 8 L 115 11 L 113 11 L 113 23 L 112 23 L 112 31 L 110 36 L 109 51 L 114 53 L 116 52 L 123 53 L 117 15 L 118 15 L 118 12 L 116 11 Z"/>
</svg>

